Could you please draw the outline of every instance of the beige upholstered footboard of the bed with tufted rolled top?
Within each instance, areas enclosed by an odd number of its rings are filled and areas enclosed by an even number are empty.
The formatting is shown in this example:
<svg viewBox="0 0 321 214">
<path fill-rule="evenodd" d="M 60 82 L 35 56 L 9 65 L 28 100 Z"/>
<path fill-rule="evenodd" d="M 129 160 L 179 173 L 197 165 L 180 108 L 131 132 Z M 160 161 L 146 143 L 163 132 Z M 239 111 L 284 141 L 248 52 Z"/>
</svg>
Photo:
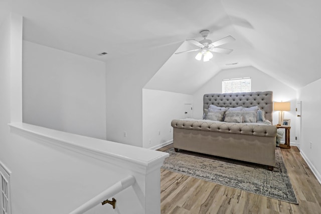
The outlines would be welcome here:
<svg viewBox="0 0 321 214">
<path fill-rule="evenodd" d="M 174 148 L 275 165 L 275 126 L 173 120 Z"/>
</svg>

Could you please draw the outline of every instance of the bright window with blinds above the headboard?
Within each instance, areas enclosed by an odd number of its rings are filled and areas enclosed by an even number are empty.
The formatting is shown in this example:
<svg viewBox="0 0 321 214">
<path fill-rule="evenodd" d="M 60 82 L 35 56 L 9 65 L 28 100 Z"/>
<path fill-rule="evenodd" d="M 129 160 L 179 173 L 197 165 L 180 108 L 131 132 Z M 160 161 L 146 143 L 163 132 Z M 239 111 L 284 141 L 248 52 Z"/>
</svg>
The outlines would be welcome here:
<svg viewBox="0 0 321 214">
<path fill-rule="evenodd" d="M 222 80 L 222 93 L 250 92 L 250 91 L 251 91 L 251 77 Z"/>
</svg>

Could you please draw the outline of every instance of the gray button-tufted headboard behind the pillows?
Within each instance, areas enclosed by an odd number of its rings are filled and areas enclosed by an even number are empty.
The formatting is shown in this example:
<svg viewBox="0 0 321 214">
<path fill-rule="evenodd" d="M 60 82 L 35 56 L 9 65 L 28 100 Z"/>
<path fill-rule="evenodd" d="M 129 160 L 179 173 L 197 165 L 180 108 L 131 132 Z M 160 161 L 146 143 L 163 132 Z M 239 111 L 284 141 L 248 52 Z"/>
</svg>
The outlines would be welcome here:
<svg viewBox="0 0 321 214">
<path fill-rule="evenodd" d="M 251 107 L 259 106 L 265 112 L 265 119 L 272 123 L 273 91 L 238 92 L 238 93 L 207 93 L 204 94 L 203 109 L 210 104 L 220 107 Z"/>
</svg>

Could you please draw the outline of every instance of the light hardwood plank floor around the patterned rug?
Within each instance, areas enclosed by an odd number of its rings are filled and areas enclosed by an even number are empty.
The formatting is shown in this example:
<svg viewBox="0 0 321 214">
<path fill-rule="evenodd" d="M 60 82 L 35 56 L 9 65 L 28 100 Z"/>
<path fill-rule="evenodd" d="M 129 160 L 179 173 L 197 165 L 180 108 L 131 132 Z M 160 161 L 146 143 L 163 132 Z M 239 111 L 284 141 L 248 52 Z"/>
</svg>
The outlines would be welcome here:
<svg viewBox="0 0 321 214">
<path fill-rule="evenodd" d="M 166 151 L 168 145 L 159 149 Z M 321 213 L 321 185 L 295 146 L 281 149 L 299 204 L 161 169 L 161 213 Z"/>
</svg>

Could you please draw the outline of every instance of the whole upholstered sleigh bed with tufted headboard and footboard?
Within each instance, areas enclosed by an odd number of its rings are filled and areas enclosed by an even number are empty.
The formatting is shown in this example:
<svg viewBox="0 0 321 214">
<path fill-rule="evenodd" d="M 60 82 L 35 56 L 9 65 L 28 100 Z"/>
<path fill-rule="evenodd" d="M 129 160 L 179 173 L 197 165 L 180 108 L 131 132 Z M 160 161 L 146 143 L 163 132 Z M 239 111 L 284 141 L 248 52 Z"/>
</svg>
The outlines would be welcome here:
<svg viewBox="0 0 321 214">
<path fill-rule="evenodd" d="M 263 112 L 265 120 L 262 121 L 263 123 L 244 123 L 243 121 L 243 123 L 236 123 L 240 122 L 237 121 L 239 117 L 235 117 L 237 120 L 234 122 L 229 118 L 223 120 L 232 122 L 173 120 L 171 125 L 175 151 L 178 152 L 179 149 L 182 149 L 263 164 L 269 170 L 273 170 L 277 130 L 275 126 L 272 126 L 272 95 L 272 91 L 204 94 L 204 115 L 209 114 L 208 112 L 212 111 L 213 106 L 221 108 L 218 111 L 225 108 L 223 118 L 228 115 L 227 109 L 231 111 L 235 108 L 242 109 L 241 111 L 244 112 L 258 108 L 259 112 Z M 243 114 L 241 111 L 236 112 Z M 235 115 L 236 113 L 229 114 Z M 258 113 L 256 112 L 256 114 Z"/>
</svg>

